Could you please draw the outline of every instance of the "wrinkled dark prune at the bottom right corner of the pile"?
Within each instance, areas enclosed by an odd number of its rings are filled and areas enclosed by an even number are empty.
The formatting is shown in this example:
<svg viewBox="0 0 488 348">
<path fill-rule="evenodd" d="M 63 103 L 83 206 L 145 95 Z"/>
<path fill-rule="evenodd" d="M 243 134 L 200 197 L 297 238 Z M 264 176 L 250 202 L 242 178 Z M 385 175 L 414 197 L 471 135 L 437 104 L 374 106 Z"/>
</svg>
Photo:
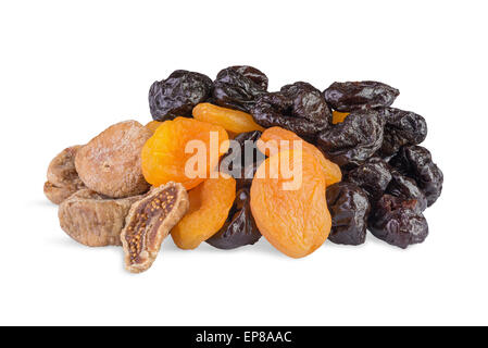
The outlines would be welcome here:
<svg viewBox="0 0 488 348">
<path fill-rule="evenodd" d="M 428 235 L 428 225 L 416 204 L 415 199 L 383 196 L 370 215 L 370 231 L 375 237 L 403 249 L 424 241 Z"/>
</svg>

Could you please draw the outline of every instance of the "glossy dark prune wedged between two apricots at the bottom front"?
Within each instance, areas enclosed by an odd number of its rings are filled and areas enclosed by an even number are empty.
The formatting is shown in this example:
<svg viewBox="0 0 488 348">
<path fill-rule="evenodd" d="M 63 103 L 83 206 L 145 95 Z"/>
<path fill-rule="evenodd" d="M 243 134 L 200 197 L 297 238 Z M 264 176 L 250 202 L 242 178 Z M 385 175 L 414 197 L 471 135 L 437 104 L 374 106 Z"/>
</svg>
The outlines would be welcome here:
<svg viewBox="0 0 488 348">
<path fill-rule="evenodd" d="M 210 239 L 211 246 L 218 249 L 235 249 L 253 245 L 261 238 L 250 207 L 249 188 L 241 188 L 236 194 L 236 200 L 230 209 L 224 226 Z"/>
</svg>

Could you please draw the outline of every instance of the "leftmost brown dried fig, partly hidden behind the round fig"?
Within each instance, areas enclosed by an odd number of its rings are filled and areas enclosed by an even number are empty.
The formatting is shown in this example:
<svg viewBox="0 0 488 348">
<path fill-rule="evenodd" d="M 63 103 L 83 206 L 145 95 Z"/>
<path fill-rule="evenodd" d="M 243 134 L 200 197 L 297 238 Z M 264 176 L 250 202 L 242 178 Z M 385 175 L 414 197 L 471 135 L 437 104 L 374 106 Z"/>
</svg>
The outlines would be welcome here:
<svg viewBox="0 0 488 348">
<path fill-rule="evenodd" d="M 49 163 L 48 181 L 45 183 L 43 191 L 54 204 L 85 188 L 75 169 L 75 156 L 80 147 L 77 145 L 64 149 Z"/>
</svg>

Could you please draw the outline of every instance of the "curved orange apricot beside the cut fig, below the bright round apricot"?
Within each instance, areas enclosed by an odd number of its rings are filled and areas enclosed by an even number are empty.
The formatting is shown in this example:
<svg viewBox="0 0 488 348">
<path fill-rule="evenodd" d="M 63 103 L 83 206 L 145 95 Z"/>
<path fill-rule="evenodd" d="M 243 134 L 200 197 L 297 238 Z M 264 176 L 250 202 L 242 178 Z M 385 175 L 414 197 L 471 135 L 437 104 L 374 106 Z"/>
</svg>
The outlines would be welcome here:
<svg viewBox="0 0 488 348">
<path fill-rule="evenodd" d="M 182 249 L 195 249 L 224 225 L 236 198 L 236 181 L 218 175 L 209 178 L 188 192 L 188 213 L 171 235 Z M 325 196 L 324 196 L 325 197 Z"/>
</svg>

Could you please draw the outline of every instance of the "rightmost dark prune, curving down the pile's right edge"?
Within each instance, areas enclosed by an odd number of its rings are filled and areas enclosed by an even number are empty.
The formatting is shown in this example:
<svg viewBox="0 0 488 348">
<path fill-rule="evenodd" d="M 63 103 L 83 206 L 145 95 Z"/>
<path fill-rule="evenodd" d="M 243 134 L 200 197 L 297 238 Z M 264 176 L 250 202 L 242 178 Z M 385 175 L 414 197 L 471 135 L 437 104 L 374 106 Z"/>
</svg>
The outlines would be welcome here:
<svg viewBox="0 0 488 348">
<path fill-rule="evenodd" d="M 427 198 L 427 207 L 436 202 L 442 192 L 443 174 L 426 148 L 417 145 L 402 147 L 389 163 L 416 182 Z"/>
</svg>

